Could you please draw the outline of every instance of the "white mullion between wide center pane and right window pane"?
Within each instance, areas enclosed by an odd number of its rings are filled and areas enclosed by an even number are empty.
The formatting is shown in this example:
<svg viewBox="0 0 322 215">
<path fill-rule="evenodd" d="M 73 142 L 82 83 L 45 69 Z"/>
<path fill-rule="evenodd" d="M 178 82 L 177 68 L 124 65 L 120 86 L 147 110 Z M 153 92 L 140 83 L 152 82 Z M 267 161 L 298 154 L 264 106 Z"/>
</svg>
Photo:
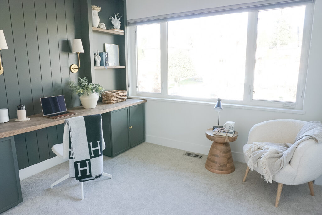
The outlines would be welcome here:
<svg viewBox="0 0 322 215">
<path fill-rule="evenodd" d="M 248 13 L 244 101 L 252 100 L 252 91 L 254 90 L 253 84 L 257 37 L 257 18 L 258 11 L 251 11 Z"/>
</svg>

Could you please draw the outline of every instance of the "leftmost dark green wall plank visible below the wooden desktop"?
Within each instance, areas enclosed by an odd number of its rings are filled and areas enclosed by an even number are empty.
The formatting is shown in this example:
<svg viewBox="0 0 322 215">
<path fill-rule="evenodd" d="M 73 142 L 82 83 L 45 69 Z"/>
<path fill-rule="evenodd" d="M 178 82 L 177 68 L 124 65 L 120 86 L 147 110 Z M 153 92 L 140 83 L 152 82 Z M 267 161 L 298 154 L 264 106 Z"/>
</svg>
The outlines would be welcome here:
<svg viewBox="0 0 322 215">
<path fill-rule="evenodd" d="M 14 135 L 19 170 L 29 166 L 26 138 L 24 134 Z"/>
</svg>

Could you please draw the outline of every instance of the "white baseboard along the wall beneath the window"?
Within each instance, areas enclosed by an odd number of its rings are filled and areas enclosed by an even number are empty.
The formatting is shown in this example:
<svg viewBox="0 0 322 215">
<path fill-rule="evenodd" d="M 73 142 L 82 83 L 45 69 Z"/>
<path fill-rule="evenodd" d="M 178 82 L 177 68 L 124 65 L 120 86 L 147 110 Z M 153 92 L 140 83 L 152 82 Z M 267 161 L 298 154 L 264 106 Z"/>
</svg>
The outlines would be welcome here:
<svg viewBox="0 0 322 215">
<path fill-rule="evenodd" d="M 156 145 L 177 148 L 185 151 L 190 151 L 198 154 L 208 155 L 210 146 L 202 146 L 194 143 L 188 143 L 184 141 L 174 140 L 174 139 L 166 139 L 151 135 L 145 136 L 145 141 L 148 143 L 153 143 Z M 244 155 L 241 152 L 232 152 L 232 158 L 234 161 L 239 161 L 245 163 Z"/>
</svg>

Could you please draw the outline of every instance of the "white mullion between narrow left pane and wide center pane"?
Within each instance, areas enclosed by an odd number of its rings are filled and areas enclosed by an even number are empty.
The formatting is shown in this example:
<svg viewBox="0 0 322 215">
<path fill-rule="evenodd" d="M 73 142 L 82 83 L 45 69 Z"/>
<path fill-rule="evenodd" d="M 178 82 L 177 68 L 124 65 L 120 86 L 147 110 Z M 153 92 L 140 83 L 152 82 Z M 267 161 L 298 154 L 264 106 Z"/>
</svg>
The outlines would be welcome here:
<svg viewBox="0 0 322 215">
<path fill-rule="evenodd" d="M 167 95 L 167 22 L 161 22 L 160 31 L 160 49 L 161 49 L 161 95 Z"/>
</svg>

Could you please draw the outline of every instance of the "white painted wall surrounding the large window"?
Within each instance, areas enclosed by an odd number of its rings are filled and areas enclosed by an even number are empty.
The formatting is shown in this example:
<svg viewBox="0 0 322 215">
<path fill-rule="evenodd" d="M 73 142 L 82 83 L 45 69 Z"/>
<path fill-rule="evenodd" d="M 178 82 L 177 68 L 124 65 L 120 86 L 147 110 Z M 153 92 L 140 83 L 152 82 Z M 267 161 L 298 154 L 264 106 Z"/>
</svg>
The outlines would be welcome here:
<svg viewBox="0 0 322 215">
<path fill-rule="evenodd" d="M 131 6 L 134 5 L 134 2 L 136 1 L 128 1 L 129 19 L 138 18 L 135 17 L 138 14 L 131 12 L 133 10 Z M 154 3 L 157 4 L 154 7 L 160 9 L 160 13 L 166 13 L 166 7 L 171 8 L 169 4 L 163 5 L 165 1 L 146 0 L 145 2 L 147 7 L 140 8 L 141 17 L 139 18 L 142 18 L 143 14 L 146 14 L 146 16 L 153 15 L 148 7 L 152 7 L 151 5 Z M 168 2 L 171 1 L 168 0 Z M 195 1 L 180 0 L 175 2 L 182 3 L 184 8 L 197 9 Z M 215 4 L 228 1 L 214 1 L 213 3 L 213 1 L 204 0 L 199 2 L 201 4 L 198 5 L 202 5 L 205 8 L 207 2 L 209 7 L 214 7 Z M 235 130 L 239 133 L 238 139 L 231 143 L 234 160 L 244 162 L 242 147 L 247 142 L 249 130 L 256 123 L 272 119 L 322 121 L 322 28 L 320 25 L 322 23 L 322 13 L 319 13 L 322 11 L 322 0 L 316 0 L 314 10 L 307 84 L 304 95 L 303 110 L 305 114 L 247 110 L 224 106 L 223 111 L 220 113 L 220 124 L 222 125 L 225 121 L 235 121 Z M 175 13 L 174 11 L 169 11 L 170 13 Z M 147 142 L 208 154 L 212 142 L 206 139 L 204 131 L 212 128 L 218 121 L 218 112 L 213 111 L 213 105 L 148 100 L 145 110 Z M 322 185 L 322 177 L 317 182 Z"/>
</svg>

